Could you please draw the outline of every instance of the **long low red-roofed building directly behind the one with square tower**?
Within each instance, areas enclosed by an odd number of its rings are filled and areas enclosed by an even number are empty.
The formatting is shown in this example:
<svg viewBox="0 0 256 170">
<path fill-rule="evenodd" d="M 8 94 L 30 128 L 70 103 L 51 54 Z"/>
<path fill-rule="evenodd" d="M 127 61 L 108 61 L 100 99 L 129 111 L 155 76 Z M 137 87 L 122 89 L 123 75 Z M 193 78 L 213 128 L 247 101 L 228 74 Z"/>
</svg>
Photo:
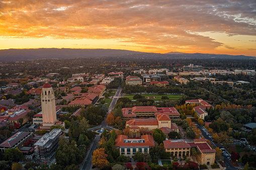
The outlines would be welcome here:
<svg viewBox="0 0 256 170">
<path fill-rule="evenodd" d="M 166 114 L 171 119 L 180 119 L 180 113 L 175 107 L 134 106 L 122 108 L 124 118 L 156 118 L 158 114 Z"/>
</svg>

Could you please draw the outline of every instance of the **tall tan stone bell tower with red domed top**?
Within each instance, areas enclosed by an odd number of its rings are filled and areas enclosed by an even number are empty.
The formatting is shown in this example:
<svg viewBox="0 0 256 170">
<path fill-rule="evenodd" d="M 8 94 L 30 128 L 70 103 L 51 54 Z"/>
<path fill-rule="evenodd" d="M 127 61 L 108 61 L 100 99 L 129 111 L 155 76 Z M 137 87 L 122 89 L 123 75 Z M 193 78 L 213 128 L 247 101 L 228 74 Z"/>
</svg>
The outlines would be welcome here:
<svg viewBox="0 0 256 170">
<path fill-rule="evenodd" d="M 41 94 L 42 116 L 43 126 L 49 127 L 55 124 L 57 121 L 56 108 L 55 108 L 55 96 L 52 87 L 49 83 L 43 85 Z"/>
</svg>

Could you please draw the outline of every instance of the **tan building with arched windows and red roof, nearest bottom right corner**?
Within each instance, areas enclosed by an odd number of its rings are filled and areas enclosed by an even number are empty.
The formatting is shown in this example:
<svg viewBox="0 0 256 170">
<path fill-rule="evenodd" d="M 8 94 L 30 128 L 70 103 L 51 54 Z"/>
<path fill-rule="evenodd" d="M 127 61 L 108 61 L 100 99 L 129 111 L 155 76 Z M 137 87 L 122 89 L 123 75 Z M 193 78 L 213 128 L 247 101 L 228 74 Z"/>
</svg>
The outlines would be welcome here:
<svg viewBox="0 0 256 170">
<path fill-rule="evenodd" d="M 193 142 L 185 140 L 164 140 L 163 146 L 165 151 L 170 152 L 171 156 L 192 156 L 192 148 L 196 148 L 199 154 L 196 156 L 200 164 L 210 165 L 215 161 L 215 149 L 207 143 L 207 139 L 194 139 Z"/>
</svg>

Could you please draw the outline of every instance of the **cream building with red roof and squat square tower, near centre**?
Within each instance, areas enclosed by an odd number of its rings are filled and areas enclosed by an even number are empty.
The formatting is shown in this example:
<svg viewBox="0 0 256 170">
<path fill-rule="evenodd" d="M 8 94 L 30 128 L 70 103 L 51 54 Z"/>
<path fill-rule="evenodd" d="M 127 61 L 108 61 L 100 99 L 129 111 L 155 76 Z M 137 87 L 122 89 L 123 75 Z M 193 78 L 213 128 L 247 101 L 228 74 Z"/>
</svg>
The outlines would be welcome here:
<svg viewBox="0 0 256 170">
<path fill-rule="evenodd" d="M 171 131 L 179 132 L 177 124 L 172 123 L 169 116 L 163 113 L 151 119 L 131 119 L 126 121 L 125 126 L 129 127 L 129 137 L 139 137 L 145 134 L 152 135 L 156 128 L 162 130 L 166 137 Z"/>
</svg>

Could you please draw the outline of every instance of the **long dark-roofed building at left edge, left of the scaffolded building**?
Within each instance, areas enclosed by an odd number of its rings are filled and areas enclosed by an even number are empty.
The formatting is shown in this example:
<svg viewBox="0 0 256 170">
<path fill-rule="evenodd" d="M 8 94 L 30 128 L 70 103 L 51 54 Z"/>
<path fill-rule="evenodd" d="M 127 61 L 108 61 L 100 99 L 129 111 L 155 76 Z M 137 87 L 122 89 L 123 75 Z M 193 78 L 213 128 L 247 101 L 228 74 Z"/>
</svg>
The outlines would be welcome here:
<svg viewBox="0 0 256 170">
<path fill-rule="evenodd" d="M 5 152 L 6 149 L 20 148 L 26 141 L 33 137 L 32 132 L 17 132 L 0 144 L 0 150 Z"/>
</svg>

